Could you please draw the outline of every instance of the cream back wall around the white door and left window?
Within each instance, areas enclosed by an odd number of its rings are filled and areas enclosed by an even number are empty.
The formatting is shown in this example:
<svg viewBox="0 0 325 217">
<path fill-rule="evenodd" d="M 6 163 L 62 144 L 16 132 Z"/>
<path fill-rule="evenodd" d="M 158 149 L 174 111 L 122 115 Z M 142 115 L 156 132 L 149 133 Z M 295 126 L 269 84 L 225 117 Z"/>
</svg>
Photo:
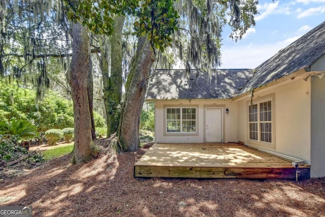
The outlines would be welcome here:
<svg viewBox="0 0 325 217">
<path fill-rule="evenodd" d="M 197 107 L 197 133 L 194 135 L 166 135 L 164 106 Z M 162 100 L 155 102 L 155 142 L 156 143 L 204 143 L 206 108 L 222 109 L 222 142 L 237 142 L 237 103 L 218 100 Z M 229 114 L 225 109 L 230 110 Z"/>
</svg>

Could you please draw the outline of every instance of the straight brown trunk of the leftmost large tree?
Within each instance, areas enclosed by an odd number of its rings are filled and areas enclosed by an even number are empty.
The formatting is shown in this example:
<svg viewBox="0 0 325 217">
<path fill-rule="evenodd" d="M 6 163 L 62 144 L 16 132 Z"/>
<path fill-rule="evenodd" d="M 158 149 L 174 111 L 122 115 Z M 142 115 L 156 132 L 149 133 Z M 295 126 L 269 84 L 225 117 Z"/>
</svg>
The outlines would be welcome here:
<svg viewBox="0 0 325 217">
<path fill-rule="evenodd" d="M 91 159 L 91 120 L 88 103 L 89 34 L 79 22 L 72 27 L 72 60 L 69 73 L 75 120 L 75 146 L 73 163 Z"/>
</svg>

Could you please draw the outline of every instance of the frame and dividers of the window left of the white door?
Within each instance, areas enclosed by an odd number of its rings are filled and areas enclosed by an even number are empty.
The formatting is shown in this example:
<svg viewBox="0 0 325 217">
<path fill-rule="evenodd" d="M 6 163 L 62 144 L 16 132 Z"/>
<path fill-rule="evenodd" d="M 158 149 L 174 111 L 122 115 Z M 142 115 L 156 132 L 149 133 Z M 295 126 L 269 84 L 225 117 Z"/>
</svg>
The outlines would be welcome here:
<svg viewBox="0 0 325 217">
<path fill-rule="evenodd" d="M 194 119 L 183 119 L 183 111 L 184 108 L 190 108 L 190 109 L 196 109 L 195 115 L 196 115 L 196 132 L 182 132 L 183 130 L 183 121 L 192 121 Z M 167 119 L 167 109 L 180 109 L 180 131 L 179 132 L 167 132 L 167 122 L 172 119 Z M 178 120 L 178 119 L 177 119 Z M 187 126 L 188 127 L 188 126 Z M 199 106 L 197 105 L 165 105 L 164 106 L 164 135 L 165 136 L 196 136 L 199 135 Z"/>
</svg>

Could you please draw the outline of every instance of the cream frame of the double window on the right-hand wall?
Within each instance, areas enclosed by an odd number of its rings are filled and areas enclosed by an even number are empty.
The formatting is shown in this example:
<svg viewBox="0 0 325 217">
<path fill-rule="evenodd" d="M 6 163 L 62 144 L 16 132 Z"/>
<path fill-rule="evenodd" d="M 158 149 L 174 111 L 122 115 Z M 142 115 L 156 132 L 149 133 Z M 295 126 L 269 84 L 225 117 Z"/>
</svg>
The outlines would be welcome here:
<svg viewBox="0 0 325 217">
<path fill-rule="evenodd" d="M 271 101 L 271 110 L 266 110 L 266 111 L 262 111 L 262 113 L 267 113 L 268 115 L 268 112 L 271 113 L 271 120 L 264 120 L 264 118 L 262 118 L 263 120 L 261 120 L 261 104 L 263 103 L 267 103 Z M 257 121 L 251 121 L 252 119 L 250 118 L 250 114 L 251 113 L 251 110 L 250 110 L 250 106 L 254 106 L 254 105 L 257 105 Z M 247 102 L 247 141 L 248 143 L 250 144 L 253 144 L 253 145 L 258 145 L 258 146 L 264 146 L 264 147 L 268 147 L 268 148 L 273 148 L 275 149 L 275 95 L 270 95 L 270 96 L 266 96 L 266 97 L 263 97 L 263 98 L 259 98 L 258 100 L 253 100 L 253 103 L 251 104 L 251 102 Z M 256 114 L 256 113 L 254 113 Z M 257 123 L 257 129 L 256 131 L 253 131 L 253 132 L 257 132 L 257 139 L 254 140 L 254 139 L 251 139 L 251 123 Z M 271 124 L 271 132 L 266 132 L 266 131 L 263 131 L 262 132 L 262 127 L 261 127 L 261 124 L 264 124 L 264 123 L 268 123 L 268 124 Z M 268 142 L 268 141 L 263 141 L 262 140 L 262 136 L 261 134 L 264 133 L 264 136 L 265 135 L 268 135 L 268 134 L 271 134 L 271 137 L 268 137 L 268 138 L 271 138 L 271 142 Z M 269 140 L 269 139 L 268 139 Z"/>
</svg>

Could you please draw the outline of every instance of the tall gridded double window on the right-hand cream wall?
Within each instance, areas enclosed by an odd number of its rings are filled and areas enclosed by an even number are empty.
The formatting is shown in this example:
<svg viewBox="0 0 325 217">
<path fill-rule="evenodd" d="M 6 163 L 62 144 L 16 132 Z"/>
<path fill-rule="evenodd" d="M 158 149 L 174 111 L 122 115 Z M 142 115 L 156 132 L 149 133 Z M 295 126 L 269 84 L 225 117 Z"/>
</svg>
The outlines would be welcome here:
<svg viewBox="0 0 325 217">
<path fill-rule="evenodd" d="M 272 101 L 248 106 L 249 139 L 272 143 Z"/>
</svg>

